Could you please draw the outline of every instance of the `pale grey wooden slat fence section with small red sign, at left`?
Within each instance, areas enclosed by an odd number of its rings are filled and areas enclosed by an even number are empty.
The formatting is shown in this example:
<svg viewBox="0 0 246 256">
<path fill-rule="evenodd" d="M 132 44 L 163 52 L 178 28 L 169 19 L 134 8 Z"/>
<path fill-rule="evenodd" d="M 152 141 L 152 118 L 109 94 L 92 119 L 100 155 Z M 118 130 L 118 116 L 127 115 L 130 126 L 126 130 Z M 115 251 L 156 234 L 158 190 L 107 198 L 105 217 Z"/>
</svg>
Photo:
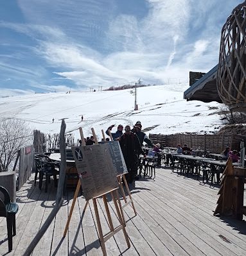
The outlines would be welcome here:
<svg viewBox="0 0 246 256">
<path fill-rule="evenodd" d="M 19 183 L 17 190 L 19 190 L 31 176 L 31 170 L 33 167 L 33 155 L 33 145 L 20 149 Z"/>
</svg>

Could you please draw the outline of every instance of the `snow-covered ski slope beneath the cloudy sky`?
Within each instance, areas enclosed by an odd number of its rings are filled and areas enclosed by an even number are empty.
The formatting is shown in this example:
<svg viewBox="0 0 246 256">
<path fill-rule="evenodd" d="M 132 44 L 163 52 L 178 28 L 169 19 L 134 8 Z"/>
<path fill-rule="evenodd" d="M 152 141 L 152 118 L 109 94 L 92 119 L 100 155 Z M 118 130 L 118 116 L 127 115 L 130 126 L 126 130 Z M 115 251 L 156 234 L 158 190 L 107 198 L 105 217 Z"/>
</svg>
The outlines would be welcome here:
<svg viewBox="0 0 246 256">
<path fill-rule="evenodd" d="M 67 118 L 66 132 L 80 137 L 78 128 L 83 128 L 85 137 L 92 135 L 93 127 L 98 139 L 111 124 L 129 124 L 141 121 L 149 133 L 213 133 L 223 126 L 220 121 L 222 104 L 186 101 L 183 99 L 188 84 L 169 84 L 137 88 L 137 111 L 134 111 L 135 96 L 129 90 L 102 92 L 73 92 L 28 94 L 0 98 L 0 118 L 23 119 L 31 129 L 44 133 L 60 132 L 59 119 Z M 83 121 L 81 122 L 81 116 Z M 55 119 L 52 123 L 52 119 Z M 155 126 L 153 128 L 150 128 Z M 116 132 L 113 128 L 112 132 Z"/>
</svg>

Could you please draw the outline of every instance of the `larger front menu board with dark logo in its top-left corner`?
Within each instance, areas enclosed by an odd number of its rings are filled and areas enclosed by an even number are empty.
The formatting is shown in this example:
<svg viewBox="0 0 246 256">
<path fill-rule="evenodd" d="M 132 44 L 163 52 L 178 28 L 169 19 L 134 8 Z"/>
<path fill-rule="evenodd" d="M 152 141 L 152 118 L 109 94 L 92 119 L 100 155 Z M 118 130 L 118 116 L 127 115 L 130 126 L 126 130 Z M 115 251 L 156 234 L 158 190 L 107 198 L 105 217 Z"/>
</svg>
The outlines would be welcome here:
<svg viewBox="0 0 246 256">
<path fill-rule="evenodd" d="M 118 173 L 109 144 L 73 147 L 72 150 L 85 200 L 118 188 Z"/>
</svg>

